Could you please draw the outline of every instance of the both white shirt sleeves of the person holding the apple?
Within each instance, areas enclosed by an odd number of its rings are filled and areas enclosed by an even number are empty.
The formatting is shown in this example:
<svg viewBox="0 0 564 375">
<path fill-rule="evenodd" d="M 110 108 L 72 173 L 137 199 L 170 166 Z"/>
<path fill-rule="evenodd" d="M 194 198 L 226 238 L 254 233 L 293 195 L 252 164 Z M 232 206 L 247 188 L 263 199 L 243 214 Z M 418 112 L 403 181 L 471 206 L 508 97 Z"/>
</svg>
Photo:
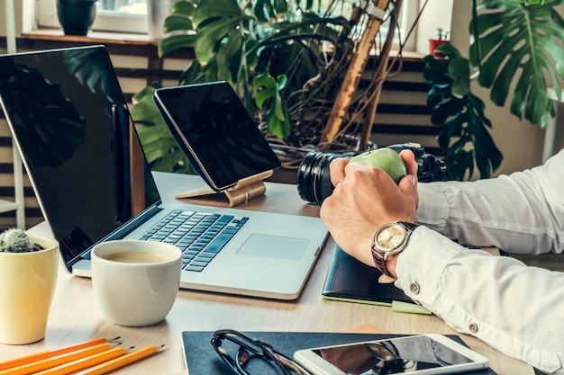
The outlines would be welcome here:
<svg viewBox="0 0 564 375">
<path fill-rule="evenodd" d="M 397 258 L 396 286 L 459 332 L 564 374 L 564 273 L 450 240 L 508 253 L 560 253 L 563 187 L 564 151 L 509 176 L 419 184 L 416 220 L 423 227 Z"/>
</svg>

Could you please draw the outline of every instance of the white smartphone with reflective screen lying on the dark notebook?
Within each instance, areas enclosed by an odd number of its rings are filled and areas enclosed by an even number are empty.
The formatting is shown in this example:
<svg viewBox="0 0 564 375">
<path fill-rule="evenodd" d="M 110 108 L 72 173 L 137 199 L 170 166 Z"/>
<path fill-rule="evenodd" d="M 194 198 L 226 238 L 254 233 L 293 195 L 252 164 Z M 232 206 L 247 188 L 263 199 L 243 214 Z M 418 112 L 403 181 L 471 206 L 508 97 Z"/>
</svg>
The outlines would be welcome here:
<svg viewBox="0 0 564 375">
<path fill-rule="evenodd" d="M 452 374 L 487 369 L 487 358 L 445 335 L 299 350 L 294 359 L 314 375 Z"/>
</svg>

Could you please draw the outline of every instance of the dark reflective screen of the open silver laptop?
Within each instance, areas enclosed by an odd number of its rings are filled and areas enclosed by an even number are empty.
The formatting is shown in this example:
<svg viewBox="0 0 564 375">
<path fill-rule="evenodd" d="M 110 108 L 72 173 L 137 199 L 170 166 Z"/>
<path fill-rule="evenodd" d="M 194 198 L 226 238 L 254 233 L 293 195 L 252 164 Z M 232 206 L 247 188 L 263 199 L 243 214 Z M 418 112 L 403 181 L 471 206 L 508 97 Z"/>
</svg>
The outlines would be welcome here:
<svg viewBox="0 0 564 375">
<path fill-rule="evenodd" d="M 159 203 L 103 46 L 0 56 L 0 100 L 65 263 Z"/>
</svg>

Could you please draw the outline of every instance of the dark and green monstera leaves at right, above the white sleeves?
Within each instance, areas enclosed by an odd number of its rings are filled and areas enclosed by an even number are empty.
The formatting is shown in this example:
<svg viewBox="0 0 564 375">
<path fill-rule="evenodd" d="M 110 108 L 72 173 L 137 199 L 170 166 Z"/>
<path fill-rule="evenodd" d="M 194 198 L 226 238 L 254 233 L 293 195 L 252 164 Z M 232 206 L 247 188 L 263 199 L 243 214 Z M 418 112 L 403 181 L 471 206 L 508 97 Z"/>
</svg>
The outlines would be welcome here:
<svg viewBox="0 0 564 375">
<path fill-rule="evenodd" d="M 489 177 L 503 156 L 487 131 L 485 103 L 470 92 L 470 80 L 489 89 L 498 106 L 542 128 L 555 115 L 549 88 L 558 100 L 564 82 L 564 21 L 555 9 L 564 0 L 473 0 L 469 59 L 450 45 L 448 59 L 425 58 L 432 84 L 427 100 L 432 123 L 440 125 L 445 163 L 456 179 L 471 176 L 474 165 Z M 455 137 L 454 141 L 451 139 Z"/>
</svg>

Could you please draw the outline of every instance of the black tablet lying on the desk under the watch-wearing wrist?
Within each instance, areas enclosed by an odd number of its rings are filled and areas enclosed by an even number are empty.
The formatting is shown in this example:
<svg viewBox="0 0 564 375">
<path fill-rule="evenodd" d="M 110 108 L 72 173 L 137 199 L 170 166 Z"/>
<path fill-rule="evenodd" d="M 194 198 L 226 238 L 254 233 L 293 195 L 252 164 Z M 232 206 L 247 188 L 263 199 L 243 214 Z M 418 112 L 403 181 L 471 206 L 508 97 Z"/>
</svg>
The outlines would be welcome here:
<svg viewBox="0 0 564 375">
<path fill-rule="evenodd" d="M 361 263 L 335 246 L 323 285 L 323 297 L 379 305 L 390 305 L 394 300 L 413 303 L 393 282 L 378 282 L 381 274 L 375 267 Z"/>
</svg>

